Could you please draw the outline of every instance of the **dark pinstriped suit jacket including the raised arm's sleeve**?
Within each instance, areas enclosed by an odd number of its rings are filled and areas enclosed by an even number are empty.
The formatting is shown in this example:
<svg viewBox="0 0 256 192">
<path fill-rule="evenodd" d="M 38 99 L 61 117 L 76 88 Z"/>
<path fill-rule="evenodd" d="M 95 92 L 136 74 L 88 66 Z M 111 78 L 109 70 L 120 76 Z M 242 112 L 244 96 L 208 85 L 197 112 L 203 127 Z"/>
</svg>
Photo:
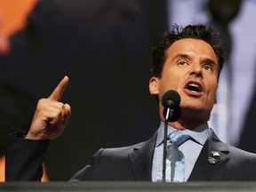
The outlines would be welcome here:
<svg viewBox="0 0 256 192">
<path fill-rule="evenodd" d="M 40 180 L 48 141 L 22 140 L 19 134 L 9 138 L 6 180 Z M 156 133 L 130 147 L 101 148 L 71 181 L 151 180 L 155 144 Z M 211 164 L 212 152 L 220 156 L 213 156 Z M 188 178 L 193 180 L 256 180 L 256 155 L 228 146 L 212 132 Z"/>
</svg>

